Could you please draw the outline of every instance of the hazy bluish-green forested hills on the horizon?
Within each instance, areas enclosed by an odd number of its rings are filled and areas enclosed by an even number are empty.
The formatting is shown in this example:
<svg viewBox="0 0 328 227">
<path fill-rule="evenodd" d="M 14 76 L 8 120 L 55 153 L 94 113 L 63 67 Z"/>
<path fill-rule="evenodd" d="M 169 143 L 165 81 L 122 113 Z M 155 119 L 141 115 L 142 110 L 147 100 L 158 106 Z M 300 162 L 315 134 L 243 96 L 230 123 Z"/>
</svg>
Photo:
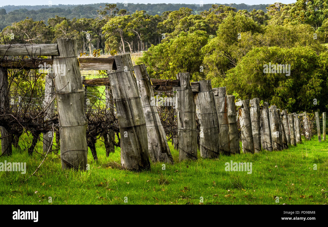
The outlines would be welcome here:
<svg viewBox="0 0 328 227">
<path fill-rule="evenodd" d="M 123 2 L 123 1 L 122 1 Z M 190 8 L 193 10 L 193 14 L 199 14 L 201 11 L 208 10 L 212 7 L 212 4 L 134 4 L 134 3 L 116 3 L 120 9 L 126 9 L 132 14 L 136 10 L 145 10 L 149 15 L 161 15 L 165 11 L 179 10 L 181 7 Z M 262 9 L 266 11 L 267 4 L 260 5 L 246 5 L 246 4 L 224 4 L 231 6 L 237 10 L 246 9 L 251 11 L 253 9 Z M 59 16 L 66 17 L 67 19 L 75 18 L 96 18 L 97 10 L 105 8 L 105 3 L 87 4 L 87 5 L 40 5 L 40 6 L 3 6 L 0 9 L 0 28 L 21 20 L 26 17 L 33 18 L 35 21 L 43 20 L 48 21 L 49 18 Z"/>
</svg>

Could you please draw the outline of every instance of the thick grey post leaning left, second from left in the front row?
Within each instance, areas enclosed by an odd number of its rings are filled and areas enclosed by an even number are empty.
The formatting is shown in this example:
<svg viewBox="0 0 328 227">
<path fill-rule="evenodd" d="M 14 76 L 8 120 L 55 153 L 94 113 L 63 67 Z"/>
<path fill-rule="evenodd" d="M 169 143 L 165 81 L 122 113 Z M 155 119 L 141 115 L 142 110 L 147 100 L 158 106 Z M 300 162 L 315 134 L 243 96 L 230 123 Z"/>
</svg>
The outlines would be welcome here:
<svg viewBox="0 0 328 227">
<path fill-rule="evenodd" d="M 121 165 L 150 169 L 145 117 L 129 54 L 114 56 L 116 71 L 108 71 L 121 135 Z"/>
</svg>

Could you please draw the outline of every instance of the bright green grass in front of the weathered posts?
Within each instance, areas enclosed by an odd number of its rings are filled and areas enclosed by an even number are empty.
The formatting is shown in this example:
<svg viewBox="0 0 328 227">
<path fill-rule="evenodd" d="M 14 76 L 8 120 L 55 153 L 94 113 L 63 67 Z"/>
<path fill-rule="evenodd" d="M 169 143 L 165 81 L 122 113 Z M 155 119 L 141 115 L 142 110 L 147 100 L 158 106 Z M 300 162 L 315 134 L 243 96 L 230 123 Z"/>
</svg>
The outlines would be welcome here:
<svg viewBox="0 0 328 227">
<path fill-rule="evenodd" d="M 42 151 L 41 145 L 39 142 L 37 152 Z M 151 171 L 121 170 L 119 150 L 106 157 L 104 144 L 98 141 L 99 160 L 94 162 L 89 151 L 89 171 L 61 170 L 58 156 L 50 154 L 37 176 L 31 174 L 44 157 L 13 150 L 12 156 L 2 156 L 0 162 L 26 162 L 27 171 L 0 172 L 0 204 L 327 203 L 323 198 L 323 192 L 328 191 L 326 141 L 319 143 L 314 138 L 284 151 L 222 155 L 215 160 L 198 154 L 197 161 L 183 162 L 178 161 L 178 151 L 171 142 L 169 145 L 175 163 L 166 164 L 165 170 L 162 163 L 152 164 Z M 225 163 L 231 160 L 252 162 L 252 173 L 225 171 Z"/>
</svg>

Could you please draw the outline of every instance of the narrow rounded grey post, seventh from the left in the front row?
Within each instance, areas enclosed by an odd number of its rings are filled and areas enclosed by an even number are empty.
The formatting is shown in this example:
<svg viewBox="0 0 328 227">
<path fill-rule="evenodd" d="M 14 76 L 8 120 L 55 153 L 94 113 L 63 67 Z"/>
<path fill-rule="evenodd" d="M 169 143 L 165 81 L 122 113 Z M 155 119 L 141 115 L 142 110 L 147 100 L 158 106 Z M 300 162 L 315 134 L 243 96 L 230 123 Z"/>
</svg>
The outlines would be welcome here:
<svg viewBox="0 0 328 227">
<path fill-rule="evenodd" d="M 239 135 L 236 119 L 235 96 L 227 95 L 228 123 L 229 123 L 229 144 L 231 154 L 240 154 Z"/>
</svg>

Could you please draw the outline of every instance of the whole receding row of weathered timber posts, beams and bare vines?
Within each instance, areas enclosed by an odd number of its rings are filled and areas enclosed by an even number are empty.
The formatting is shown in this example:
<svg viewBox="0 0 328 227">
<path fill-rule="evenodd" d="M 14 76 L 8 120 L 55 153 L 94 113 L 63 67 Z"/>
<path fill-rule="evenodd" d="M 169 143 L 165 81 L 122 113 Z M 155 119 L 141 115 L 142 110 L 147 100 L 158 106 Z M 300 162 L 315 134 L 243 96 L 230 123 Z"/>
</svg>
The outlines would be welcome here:
<svg viewBox="0 0 328 227">
<path fill-rule="evenodd" d="M 259 98 L 236 102 L 225 87 L 190 82 L 189 73 L 153 79 L 145 65 L 132 65 L 129 54 L 77 55 L 71 39 L 0 46 L 1 155 L 10 155 L 11 145 L 21 149 L 25 132 L 30 155 L 41 135 L 43 155 L 56 153 L 63 169 L 87 170 L 87 147 L 97 160 L 95 143 L 102 138 L 107 156 L 119 150 L 123 168 L 144 170 L 150 169 L 149 158 L 173 163 L 169 140 L 184 160 L 197 159 L 197 143 L 203 158 L 239 154 L 240 140 L 244 153 L 283 150 L 301 143 L 301 135 L 311 139 L 314 122 L 319 142 L 320 125 L 326 139 L 326 113 L 320 120 L 318 112 L 316 119 L 306 112 L 288 114 L 260 105 Z M 88 70 L 101 77 L 86 79 L 81 72 Z"/>
</svg>

